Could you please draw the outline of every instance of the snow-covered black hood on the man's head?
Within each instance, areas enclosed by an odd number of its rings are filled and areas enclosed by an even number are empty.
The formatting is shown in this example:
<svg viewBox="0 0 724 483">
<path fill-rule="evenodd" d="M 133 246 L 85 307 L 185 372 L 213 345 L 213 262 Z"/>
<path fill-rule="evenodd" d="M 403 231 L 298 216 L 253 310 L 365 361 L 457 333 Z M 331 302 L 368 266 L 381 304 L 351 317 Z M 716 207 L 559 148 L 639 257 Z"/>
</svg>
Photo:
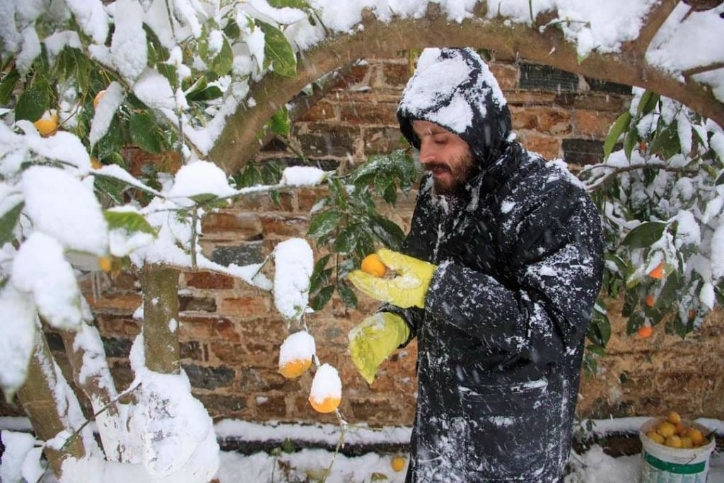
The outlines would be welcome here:
<svg viewBox="0 0 724 483">
<path fill-rule="evenodd" d="M 420 148 L 416 119 L 434 122 L 463 138 L 478 161 L 489 167 L 510 134 L 510 111 L 487 64 L 473 49 L 425 49 L 397 108 L 400 130 Z"/>
</svg>

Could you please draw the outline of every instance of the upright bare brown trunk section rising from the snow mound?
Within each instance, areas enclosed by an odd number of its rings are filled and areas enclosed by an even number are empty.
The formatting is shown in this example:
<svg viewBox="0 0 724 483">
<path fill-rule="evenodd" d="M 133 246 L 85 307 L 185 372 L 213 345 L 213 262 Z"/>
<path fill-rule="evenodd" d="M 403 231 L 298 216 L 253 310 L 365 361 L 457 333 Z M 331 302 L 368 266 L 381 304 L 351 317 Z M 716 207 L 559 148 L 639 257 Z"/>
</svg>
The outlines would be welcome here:
<svg viewBox="0 0 724 483">
<path fill-rule="evenodd" d="M 146 367 L 180 373 L 178 339 L 179 270 L 147 264 L 143 269 L 143 349 Z"/>
</svg>

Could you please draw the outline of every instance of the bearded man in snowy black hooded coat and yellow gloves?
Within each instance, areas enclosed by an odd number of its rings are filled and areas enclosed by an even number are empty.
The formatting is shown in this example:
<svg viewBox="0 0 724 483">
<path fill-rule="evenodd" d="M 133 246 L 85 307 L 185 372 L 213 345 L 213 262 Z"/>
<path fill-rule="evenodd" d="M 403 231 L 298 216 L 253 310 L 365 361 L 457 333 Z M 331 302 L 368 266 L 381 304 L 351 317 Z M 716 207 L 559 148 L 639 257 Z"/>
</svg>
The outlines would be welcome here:
<svg viewBox="0 0 724 483">
<path fill-rule="evenodd" d="M 586 326 L 602 277 L 600 219 L 565 166 L 529 153 L 487 65 L 426 49 L 397 111 L 428 173 L 384 301 L 350 332 L 371 382 L 418 340 L 408 482 L 560 482 Z"/>
</svg>

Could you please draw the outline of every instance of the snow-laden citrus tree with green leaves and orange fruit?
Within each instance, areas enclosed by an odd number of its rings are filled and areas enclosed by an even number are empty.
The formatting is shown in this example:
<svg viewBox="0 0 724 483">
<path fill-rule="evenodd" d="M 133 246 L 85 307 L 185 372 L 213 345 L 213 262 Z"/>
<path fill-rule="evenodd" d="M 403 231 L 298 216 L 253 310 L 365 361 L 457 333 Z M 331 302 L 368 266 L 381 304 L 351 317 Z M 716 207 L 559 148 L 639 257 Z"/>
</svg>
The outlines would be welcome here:
<svg viewBox="0 0 724 483">
<path fill-rule="evenodd" d="M 320 91 L 313 83 L 324 85 L 324 75 L 370 52 L 470 45 L 650 88 L 712 120 L 679 107 L 670 117 L 667 109 L 678 104 L 659 97 L 654 102 L 649 94 L 639 102 L 641 109 L 614 126 L 611 146 L 624 135 L 627 162 L 638 162 L 634 152 L 644 158 L 650 153 L 648 159 L 673 163 L 683 176 L 702 171 L 718 181 L 722 59 L 715 51 L 676 63 L 669 54 L 692 30 L 716 38 L 720 8 L 699 13 L 676 1 L 625 3 L 614 8 L 526 0 L 369 0 L 340 9 L 326 0 L 0 2 L 0 308 L 6 315 L 0 325 L 0 385 L 7 398 L 17 393 L 56 475 L 201 482 L 215 474 L 218 446 L 211 419 L 190 394 L 179 364 L 180 269 L 228 274 L 269 291 L 299 334 L 306 331 L 306 317 L 334 290 L 355 304 L 345 274 L 376 243 L 399 246 L 403 233 L 377 214 L 374 195 L 394 203 L 397 190 L 411 188 L 417 173 L 408 154 L 381 156 L 339 173 L 313 167 L 282 172 L 248 162 L 260 140 L 288 134 L 292 97 L 308 91 L 313 98 Z M 602 28 L 622 14 L 617 8 L 636 21 Z M 634 124 L 642 116 L 652 116 L 649 124 L 656 129 L 641 130 L 639 120 Z M 690 144 L 682 119 L 695 133 Z M 683 160 L 668 156 L 676 147 L 665 138 L 678 139 Z M 635 151 L 640 141 L 649 147 Z M 131 175 L 127 146 L 161 161 Z M 607 166 L 615 159 L 623 163 L 616 154 Z M 676 214 L 654 211 L 647 205 L 652 201 L 631 195 L 639 186 L 649 187 L 652 167 L 640 170 L 648 176 L 641 180 L 633 168 L 615 172 L 617 182 L 601 179 L 607 169 L 588 172 L 592 188 L 602 187 L 602 199 L 618 197 L 612 213 L 626 219 L 620 230 L 612 225 L 609 231 L 607 287 L 612 293 L 626 287 L 631 314 L 638 314 L 632 327 L 642 317 L 652 323 L 652 311 L 663 313 L 675 303 L 686 314 L 694 308 L 694 320 L 700 319 L 713 306 L 710 295 L 721 274 L 687 272 L 687 262 L 713 263 L 719 256 L 692 251 L 691 217 L 700 240 L 717 238 L 718 224 L 711 223 L 720 216 L 722 198 L 702 194 L 707 201 L 702 213 L 683 201 Z M 702 177 L 696 189 L 718 190 L 712 188 L 716 182 L 707 182 Z M 316 263 L 300 239 L 279 243 L 269 264 L 221 266 L 201 253 L 203 214 L 250 193 L 266 191 L 274 198 L 279 190 L 319 183 L 326 183 L 330 194 L 311 214 L 308 237 L 328 254 Z M 638 204 L 628 206 L 634 198 Z M 681 214 L 687 210 L 691 217 Z M 701 226 L 707 223 L 711 235 Z M 681 241 L 683 227 L 688 238 Z M 662 261 L 662 276 L 681 282 L 659 290 L 644 274 Z M 78 285 L 79 274 L 96 269 L 133 269 L 142 280 L 143 331 L 131 353 L 135 380 L 123 393 L 110 377 Z M 651 310 L 639 310 L 649 294 Z M 589 337 L 602 347 L 605 318 L 594 320 Z M 102 450 L 51 356 L 45 324 L 62 332 L 75 384 L 93 406 Z M 297 335 L 282 344 L 280 371 L 296 377 L 315 363 L 311 403 L 336 411 L 337 371 L 316 358 L 310 337 Z M 28 451 L 30 460 L 37 461 L 36 449 Z M 31 463 L 28 468 L 37 468 Z"/>
</svg>

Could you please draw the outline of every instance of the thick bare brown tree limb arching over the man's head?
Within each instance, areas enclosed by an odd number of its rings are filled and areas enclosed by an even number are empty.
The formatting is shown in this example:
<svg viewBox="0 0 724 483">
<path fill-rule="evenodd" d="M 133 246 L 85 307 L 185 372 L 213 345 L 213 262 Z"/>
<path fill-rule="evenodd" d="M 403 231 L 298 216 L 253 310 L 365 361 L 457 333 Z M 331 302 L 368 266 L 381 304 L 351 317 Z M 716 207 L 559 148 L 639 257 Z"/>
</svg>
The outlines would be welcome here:
<svg viewBox="0 0 724 483">
<path fill-rule="evenodd" d="M 296 77 L 271 74 L 253 85 L 251 96 L 255 106 L 240 106 L 232 114 L 209 157 L 227 172 L 237 171 L 258 152 L 256 133 L 279 106 L 286 104 L 305 85 L 369 54 L 389 56 L 400 50 L 429 46 L 492 49 L 506 56 L 586 77 L 637 85 L 681 101 L 724 125 L 724 104 L 715 100 L 709 88 L 688 77 L 695 72 L 684 72 L 687 82 L 681 83 L 673 75 L 650 67 L 644 58 L 649 42 L 677 3 L 677 0 L 663 0 L 654 7 L 639 38 L 625 44 L 620 53 L 592 52 L 583 62 L 578 62 L 576 47 L 565 41 L 560 30 L 549 28 L 540 32 L 526 25 L 506 25 L 502 18 L 487 20 L 481 9 L 476 10 L 478 17 L 459 24 L 447 20 L 437 4 L 429 4 L 425 17 L 420 19 L 389 23 L 379 22 L 366 11 L 362 17 L 363 28 L 352 34 L 336 35 L 321 46 L 304 52 L 298 62 Z M 555 13 L 547 14 L 547 18 L 538 19 L 537 23 L 543 25 L 556 16 Z M 696 72 L 705 70 L 707 67 Z"/>
</svg>

